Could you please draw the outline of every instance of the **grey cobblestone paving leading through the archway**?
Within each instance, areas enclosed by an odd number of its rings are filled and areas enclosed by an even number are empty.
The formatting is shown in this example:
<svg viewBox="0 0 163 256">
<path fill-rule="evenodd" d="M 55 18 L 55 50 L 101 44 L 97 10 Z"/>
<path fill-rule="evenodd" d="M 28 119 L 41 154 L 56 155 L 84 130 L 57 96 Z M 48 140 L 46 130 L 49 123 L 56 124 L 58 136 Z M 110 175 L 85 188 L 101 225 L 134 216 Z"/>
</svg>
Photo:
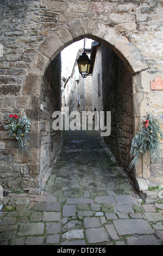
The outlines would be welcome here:
<svg viewBox="0 0 163 256">
<path fill-rule="evenodd" d="M 0 245 L 162 245 L 163 204 L 142 204 L 103 148 L 95 132 L 64 132 L 43 195 L 3 198 Z"/>
</svg>

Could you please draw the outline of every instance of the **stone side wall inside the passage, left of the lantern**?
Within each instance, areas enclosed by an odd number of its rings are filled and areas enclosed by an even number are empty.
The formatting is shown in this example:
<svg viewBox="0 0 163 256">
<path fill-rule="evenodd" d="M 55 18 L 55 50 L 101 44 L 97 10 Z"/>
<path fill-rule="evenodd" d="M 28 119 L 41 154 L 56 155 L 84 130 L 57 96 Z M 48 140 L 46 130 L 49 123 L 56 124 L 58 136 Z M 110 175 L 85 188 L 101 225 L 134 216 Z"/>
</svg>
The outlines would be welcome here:
<svg viewBox="0 0 163 256">
<path fill-rule="evenodd" d="M 40 180 L 59 150 L 60 131 L 54 131 L 54 111 L 61 111 L 61 57 L 48 66 L 41 85 Z"/>
</svg>

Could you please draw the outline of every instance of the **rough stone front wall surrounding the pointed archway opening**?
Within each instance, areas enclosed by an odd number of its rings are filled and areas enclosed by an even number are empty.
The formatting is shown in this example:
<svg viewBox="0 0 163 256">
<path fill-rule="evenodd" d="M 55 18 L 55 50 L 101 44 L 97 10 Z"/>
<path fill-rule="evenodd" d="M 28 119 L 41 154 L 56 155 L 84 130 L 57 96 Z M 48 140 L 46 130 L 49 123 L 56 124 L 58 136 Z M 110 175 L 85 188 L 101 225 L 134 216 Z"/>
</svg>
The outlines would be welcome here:
<svg viewBox="0 0 163 256">
<path fill-rule="evenodd" d="M 60 109 L 57 98 L 60 81 L 54 81 L 51 75 L 47 77 L 47 72 L 51 73 L 55 67 L 55 57 L 74 41 L 87 37 L 102 42 L 127 66 L 132 76 L 133 136 L 140 118 L 148 112 L 159 115 L 162 122 L 163 92 L 150 87 L 155 77 L 163 78 L 162 0 L 0 0 L 0 4 L 0 182 L 3 187 L 41 191 L 60 137 L 60 134 L 52 136 L 49 128 L 54 95 L 55 109 Z M 57 59 L 59 63 L 60 58 Z M 49 82 L 51 92 L 46 87 Z M 45 102 L 43 109 L 41 101 Z M 32 160 L 18 156 L 16 141 L 4 131 L 8 115 L 21 111 L 26 112 L 32 123 Z M 133 177 L 151 186 L 162 184 L 162 167 L 162 163 L 161 166 L 152 164 L 147 155 L 140 159 Z"/>
</svg>

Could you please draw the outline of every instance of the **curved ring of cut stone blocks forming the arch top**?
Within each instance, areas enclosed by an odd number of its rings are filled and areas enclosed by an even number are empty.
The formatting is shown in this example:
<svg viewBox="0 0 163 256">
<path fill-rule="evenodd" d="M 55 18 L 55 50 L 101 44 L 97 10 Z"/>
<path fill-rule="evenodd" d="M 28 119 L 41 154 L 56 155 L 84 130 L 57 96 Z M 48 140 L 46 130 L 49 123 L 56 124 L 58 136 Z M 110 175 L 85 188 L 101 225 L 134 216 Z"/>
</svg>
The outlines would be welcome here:
<svg viewBox="0 0 163 256">
<path fill-rule="evenodd" d="M 149 68 L 140 51 L 133 43 L 129 42 L 125 36 L 122 36 L 120 33 L 117 33 L 115 29 L 106 26 L 103 23 L 94 23 L 95 28 L 92 29 L 92 33 L 88 33 L 88 29 L 85 31 L 86 25 L 84 26 L 78 21 L 70 23 L 68 27 L 61 26 L 57 32 L 51 32 L 47 36 L 46 40 L 39 46 L 38 51 L 28 68 L 24 94 L 27 94 L 26 87 L 30 86 L 30 77 L 33 77 L 34 80 L 38 81 L 40 84 L 39 81 L 43 74 L 45 74 L 47 66 L 57 54 L 68 45 L 83 39 L 84 37 L 102 42 L 104 45 L 114 50 L 125 62 L 133 75 Z M 34 92 L 32 89 L 34 89 Z M 31 86 L 30 92 L 32 95 L 39 95 L 39 88 Z"/>
</svg>

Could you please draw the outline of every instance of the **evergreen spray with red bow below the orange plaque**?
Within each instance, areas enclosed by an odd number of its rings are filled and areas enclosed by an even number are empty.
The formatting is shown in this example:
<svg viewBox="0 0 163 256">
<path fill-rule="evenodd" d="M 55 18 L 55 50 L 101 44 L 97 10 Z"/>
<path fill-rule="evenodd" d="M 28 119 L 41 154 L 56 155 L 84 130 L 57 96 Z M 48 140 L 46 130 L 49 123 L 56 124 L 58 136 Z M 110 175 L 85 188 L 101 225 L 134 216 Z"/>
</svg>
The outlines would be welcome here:
<svg viewBox="0 0 163 256">
<path fill-rule="evenodd" d="M 139 157 L 145 155 L 147 151 L 151 153 L 152 162 L 160 162 L 160 141 L 163 139 L 161 125 L 158 118 L 153 114 L 147 114 L 143 117 L 138 126 L 138 132 L 131 143 L 130 157 L 134 157 L 131 161 L 129 169 L 136 167 Z"/>
</svg>

